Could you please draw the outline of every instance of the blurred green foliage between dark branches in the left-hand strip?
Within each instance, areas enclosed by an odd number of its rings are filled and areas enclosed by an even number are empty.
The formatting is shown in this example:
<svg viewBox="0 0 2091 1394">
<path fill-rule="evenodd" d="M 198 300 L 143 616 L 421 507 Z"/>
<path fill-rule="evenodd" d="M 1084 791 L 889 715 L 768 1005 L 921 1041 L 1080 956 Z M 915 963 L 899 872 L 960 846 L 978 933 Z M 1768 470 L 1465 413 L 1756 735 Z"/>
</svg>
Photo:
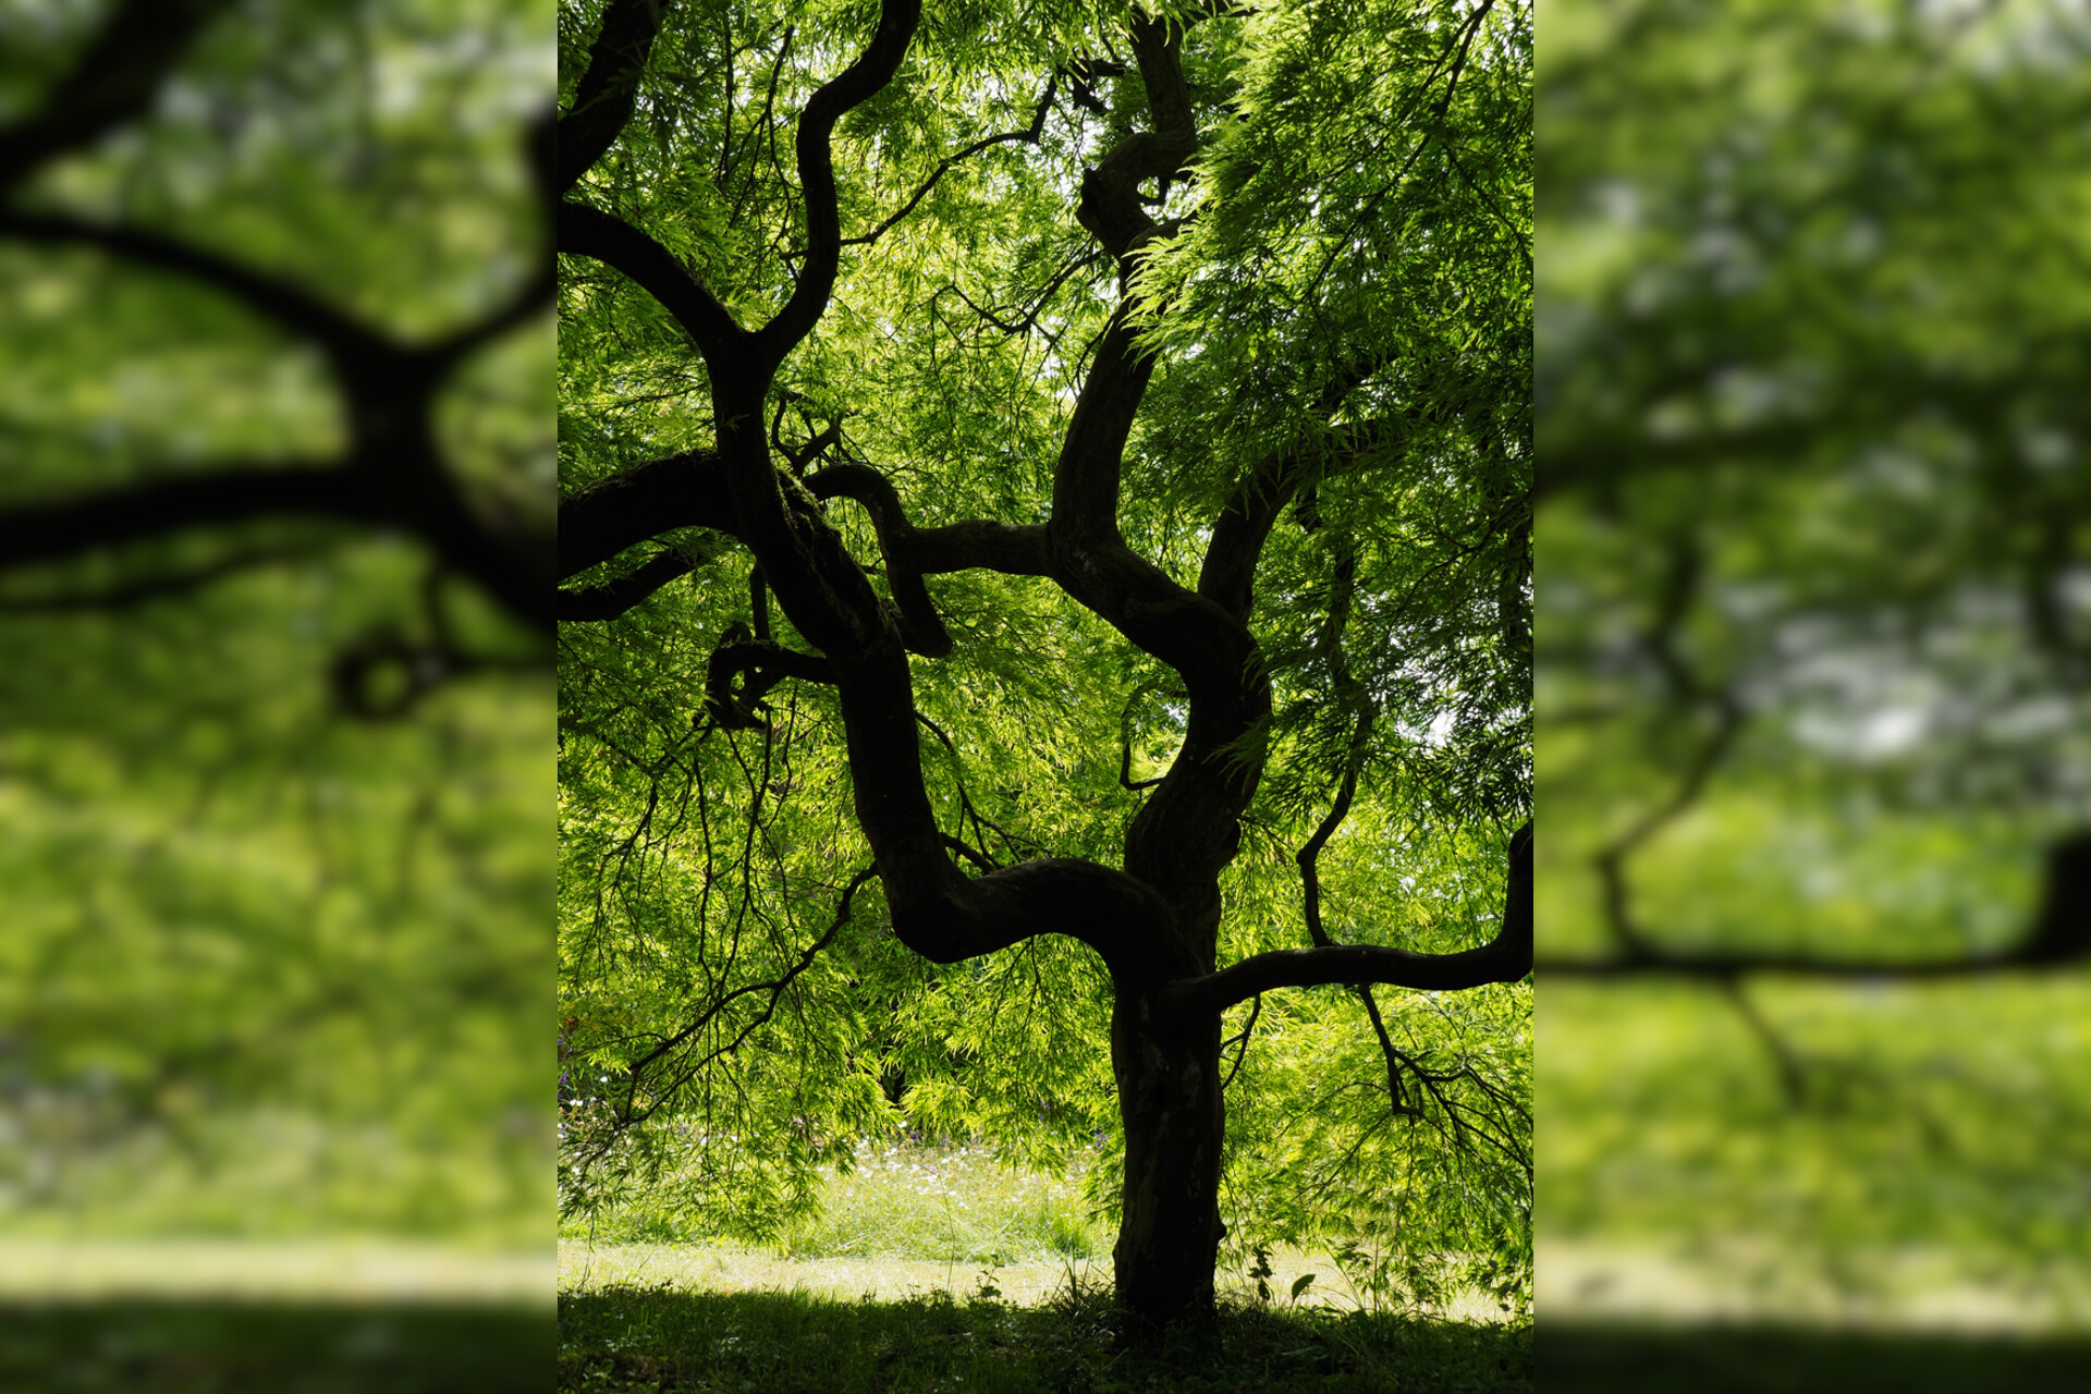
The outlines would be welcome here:
<svg viewBox="0 0 2091 1394">
<path fill-rule="evenodd" d="M 8 4 L 0 125 L 115 15 Z M 550 63 L 531 4 L 234 4 L 8 213 L 427 339 L 544 263 Z M 539 527 L 550 330 L 521 318 L 435 408 L 473 506 Z M 330 362 L 207 276 L 8 228 L 0 362 L 0 516 L 345 439 Z M 0 556 L 0 1229 L 550 1239 L 546 667 L 355 518 Z"/>
</svg>

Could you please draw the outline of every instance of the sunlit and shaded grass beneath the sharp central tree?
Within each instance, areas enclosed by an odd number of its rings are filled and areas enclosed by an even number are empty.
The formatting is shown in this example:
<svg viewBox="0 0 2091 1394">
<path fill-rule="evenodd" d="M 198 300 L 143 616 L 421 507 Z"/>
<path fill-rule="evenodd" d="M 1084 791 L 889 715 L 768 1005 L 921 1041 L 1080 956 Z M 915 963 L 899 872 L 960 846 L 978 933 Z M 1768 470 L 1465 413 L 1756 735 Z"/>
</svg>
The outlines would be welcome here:
<svg viewBox="0 0 2091 1394">
<path fill-rule="evenodd" d="M 830 1177 L 769 1248 L 634 1202 L 560 1241 L 558 1388 L 690 1394 L 1248 1394 L 1533 1388 L 1531 1325 L 1368 1310 L 1326 1256 L 1280 1250 L 1257 1302 L 1219 1273 L 1213 1329 L 1123 1340 L 1079 1177 L 976 1147 L 889 1147 Z M 1315 1283 L 1284 1298 L 1305 1273 Z M 1462 1308 L 1466 1310 L 1466 1308 Z M 1493 1308 L 1489 1308 L 1493 1315 Z M 1468 1312 L 1480 1317 L 1476 1302 Z"/>
</svg>

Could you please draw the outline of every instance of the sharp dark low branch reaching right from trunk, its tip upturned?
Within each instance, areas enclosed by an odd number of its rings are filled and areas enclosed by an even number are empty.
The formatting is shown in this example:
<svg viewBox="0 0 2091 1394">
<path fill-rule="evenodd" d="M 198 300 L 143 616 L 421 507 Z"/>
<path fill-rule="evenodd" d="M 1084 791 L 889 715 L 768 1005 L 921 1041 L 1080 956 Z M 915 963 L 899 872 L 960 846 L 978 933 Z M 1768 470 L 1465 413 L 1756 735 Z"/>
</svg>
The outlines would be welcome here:
<svg viewBox="0 0 2091 1394">
<path fill-rule="evenodd" d="M 1453 993 L 1485 982 L 1518 982 L 1533 972 L 1533 826 L 1510 838 L 1510 888 L 1495 938 L 1457 953 L 1411 953 L 1380 945 L 1328 945 L 1257 953 L 1219 972 L 1167 984 L 1161 1005 L 1169 1012 L 1223 1012 L 1257 993 L 1280 986 L 1332 986 L 1384 982 Z"/>
</svg>

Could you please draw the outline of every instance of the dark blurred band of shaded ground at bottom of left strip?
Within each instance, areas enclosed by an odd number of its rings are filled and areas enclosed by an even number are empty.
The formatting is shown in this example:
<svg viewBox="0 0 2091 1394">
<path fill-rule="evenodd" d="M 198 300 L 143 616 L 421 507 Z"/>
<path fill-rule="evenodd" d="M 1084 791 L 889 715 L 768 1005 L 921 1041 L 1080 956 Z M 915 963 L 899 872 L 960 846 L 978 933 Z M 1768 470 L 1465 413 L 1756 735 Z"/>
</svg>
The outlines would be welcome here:
<svg viewBox="0 0 2091 1394">
<path fill-rule="evenodd" d="M 539 1392 L 544 1308 L 130 1300 L 0 1304 L 0 1390 Z"/>
</svg>

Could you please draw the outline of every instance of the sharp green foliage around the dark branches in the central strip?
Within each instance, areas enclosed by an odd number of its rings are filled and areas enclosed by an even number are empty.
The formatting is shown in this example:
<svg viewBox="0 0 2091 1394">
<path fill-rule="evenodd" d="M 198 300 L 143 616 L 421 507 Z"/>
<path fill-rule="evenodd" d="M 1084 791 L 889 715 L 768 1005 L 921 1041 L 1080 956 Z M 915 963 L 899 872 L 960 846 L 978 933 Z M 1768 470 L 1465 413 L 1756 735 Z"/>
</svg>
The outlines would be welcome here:
<svg viewBox="0 0 2091 1394">
<path fill-rule="evenodd" d="M 786 148 L 805 94 L 872 15 L 705 15 L 663 29 L 631 125 L 579 192 L 759 322 L 803 245 L 795 182 L 769 150 Z M 562 6 L 569 88 L 598 23 L 596 4 Z M 836 134 L 845 238 L 905 207 L 968 142 L 1041 115 L 1037 140 L 989 144 L 876 242 L 845 245 L 834 301 L 778 378 L 780 447 L 836 424 L 830 458 L 872 462 L 916 527 L 1048 516 L 1117 293 L 1075 224 L 1075 190 L 1115 132 L 1146 121 L 1138 71 L 1071 73 L 1077 59 L 1123 59 L 1123 23 L 1119 6 L 1043 6 L 1022 23 L 933 6 L 899 77 Z M 1453 96 L 1462 33 L 1478 38 Z M 1196 180 L 1154 199 L 1161 215 L 1204 211 L 1138 282 L 1161 362 L 1119 525 L 1190 585 L 1246 466 L 1299 449 L 1317 462 L 1309 477 L 1326 472 L 1319 522 L 1282 518 L 1259 573 L 1253 625 L 1276 719 L 1259 731 L 1267 775 L 1223 878 L 1221 963 L 1309 943 L 1292 857 L 1353 759 L 1359 800 L 1322 857 L 1330 932 L 1453 951 L 1499 924 L 1506 834 L 1531 809 L 1529 42 L 1526 6 L 1378 2 L 1261 6 L 1204 19 L 1184 42 L 1211 130 Z M 709 447 L 703 364 L 659 305 L 583 259 L 562 268 L 560 295 L 562 493 Z M 1365 378 L 1345 410 L 1317 408 L 1355 364 Z M 876 556 L 861 514 L 828 518 L 855 556 Z M 818 1206 L 820 1166 L 847 1172 L 857 1139 L 912 1129 L 981 1137 L 1048 1170 L 1100 1143 L 1087 1185 L 1115 1221 L 1110 982 L 1081 945 L 1046 936 L 939 968 L 887 934 L 870 880 L 834 938 L 780 982 L 870 865 L 841 715 L 830 688 L 788 683 L 759 727 L 713 727 L 711 648 L 757 621 L 749 560 L 698 531 L 663 541 L 694 564 L 688 581 L 560 631 L 575 1143 L 562 1206 L 590 1214 L 650 1187 L 726 1233 L 772 1237 Z M 1355 606 L 1338 656 L 1330 577 L 1345 554 Z M 1004 865 L 1119 865 L 1144 798 L 1127 782 L 1152 782 L 1184 740 L 1175 675 L 1050 583 L 966 571 L 933 577 L 933 594 L 956 652 L 912 669 L 945 828 Z M 1365 692 L 1380 719 L 1353 746 Z M 1531 989 L 1382 989 L 1380 1001 L 1397 1045 L 1455 1076 L 1451 1103 L 1411 1097 L 1418 1118 L 1393 1114 L 1351 993 L 1267 995 L 1248 1043 L 1225 1051 L 1230 1068 L 1242 1060 L 1227 1091 L 1230 1244 L 1351 1244 L 1388 1287 L 1401 1256 L 1428 1256 L 1416 1271 L 1434 1275 L 1455 1252 L 1522 1300 Z M 1234 1009 L 1227 1035 L 1248 1016 Z M 583 1162 L 627 1110 L 642 1126 Z"/>
</svg>

